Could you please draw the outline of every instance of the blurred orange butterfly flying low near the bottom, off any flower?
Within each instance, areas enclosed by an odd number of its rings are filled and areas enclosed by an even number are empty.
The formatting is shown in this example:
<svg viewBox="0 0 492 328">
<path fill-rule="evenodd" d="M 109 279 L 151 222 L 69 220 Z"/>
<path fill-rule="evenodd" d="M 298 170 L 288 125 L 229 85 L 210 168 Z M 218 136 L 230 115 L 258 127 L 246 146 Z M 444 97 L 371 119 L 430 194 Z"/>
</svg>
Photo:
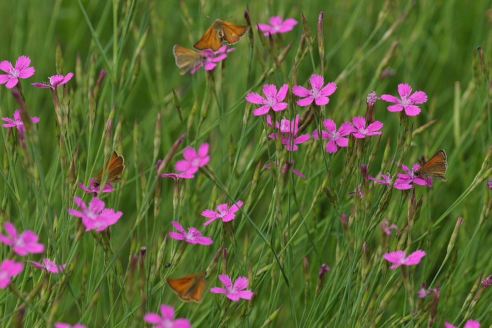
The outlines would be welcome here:
<svg viewBox="0 0 492 328">
<path fill-rule="evenodd" d="M 200 303 L 206 289 L 205 272 L 200 271 L 178 279 L 167 278 L 167 284 L 181 300 Z"/>
</svg>

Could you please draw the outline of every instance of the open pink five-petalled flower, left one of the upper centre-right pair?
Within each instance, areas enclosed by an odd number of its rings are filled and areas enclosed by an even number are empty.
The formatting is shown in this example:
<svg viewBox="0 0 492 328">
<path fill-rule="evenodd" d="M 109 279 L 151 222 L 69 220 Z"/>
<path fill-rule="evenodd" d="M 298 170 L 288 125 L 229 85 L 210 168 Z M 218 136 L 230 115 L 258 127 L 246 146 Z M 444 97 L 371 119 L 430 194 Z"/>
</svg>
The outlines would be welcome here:
<svg viewBox="0 0 492 328">
<path fill-rule="evenodd" d="M 287 103 L 281 101 L 285 99 L 288 89 L 289 86 L 284 84 L 282 87 L 280 87 L 280 90 L 278 90 L 277 93 L 277 87 L 275 85 L 266 84 L 263 86 L 263 94 L 265 95 L 265 97 L 267 97 L 266 99 L 260 96 L 258 93 L 249 92 L 246 95 L 246 100 L 252 104 L 263 105 L 253 111 L 253 114 L 255 116 L 267 114 L 270 108 L 272 108 L 275 112 L 283 111 L 287 108 Z"/>
</svg>

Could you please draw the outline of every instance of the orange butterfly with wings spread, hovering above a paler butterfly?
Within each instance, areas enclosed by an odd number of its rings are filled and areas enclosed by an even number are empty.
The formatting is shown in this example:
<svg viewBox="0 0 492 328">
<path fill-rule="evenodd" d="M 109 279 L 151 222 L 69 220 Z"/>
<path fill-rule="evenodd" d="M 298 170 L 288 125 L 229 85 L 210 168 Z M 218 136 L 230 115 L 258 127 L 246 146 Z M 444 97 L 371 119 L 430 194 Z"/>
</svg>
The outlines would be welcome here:
<svg viewBox="0 0 492 328">
<path fill-rule="evenodd" d="M 236 25 L 221 19 L 216 19 L 214 23 L 205 31 L 200 41 L 193 46 L 196 50 L 212 49 L 217 51 L 222 47 L 222 42 L 234 44 L 241 40 L 249 30 L 249 26 Z"/>
</svg>

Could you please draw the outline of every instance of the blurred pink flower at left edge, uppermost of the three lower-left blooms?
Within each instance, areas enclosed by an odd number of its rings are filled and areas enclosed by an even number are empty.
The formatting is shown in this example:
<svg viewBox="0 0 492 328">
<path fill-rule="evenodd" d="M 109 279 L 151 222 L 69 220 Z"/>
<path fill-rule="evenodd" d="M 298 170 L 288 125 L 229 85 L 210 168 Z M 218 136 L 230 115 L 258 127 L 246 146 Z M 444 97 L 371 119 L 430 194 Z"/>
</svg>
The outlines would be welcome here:
<svg viewBox="0 0 492 328">
<path fill-rule="evenodd" d="M 12 223 L 5 222 L 3 227 L 10 238 L 0 234 L 0 242 L 5 245 L 13 246 L 13 251 L 18 255 L 26 256 L 29 253 L 37 254 L 44 252 L 44 245 L 37 242 L 39 237 L 37 237 L 33 231 L 26 230 L 20 236 L 17 236 L 17 230 Z"/>
</svg>

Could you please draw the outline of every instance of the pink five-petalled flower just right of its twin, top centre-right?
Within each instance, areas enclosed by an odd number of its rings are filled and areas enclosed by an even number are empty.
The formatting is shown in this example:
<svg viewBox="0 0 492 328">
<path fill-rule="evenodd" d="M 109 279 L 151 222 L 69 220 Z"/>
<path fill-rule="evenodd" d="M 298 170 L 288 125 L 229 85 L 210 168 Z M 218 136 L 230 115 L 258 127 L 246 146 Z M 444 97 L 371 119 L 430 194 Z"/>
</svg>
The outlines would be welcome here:
<svg viewBox="0 0 492 328">
<path fill-rule="evenodd" d="M 330 82 L 323 88 L 323 84 L 325 83 L 325 79 L 321 75 L 313 74 L 309 78 L 311 82 L 312 89 L 308 90 L 301 86 L 292 87 L 292 93 L 299 97 L 306 97 L 304 99 L 299 99 L 297 104 L 299 106 L 307 106 L 314 103 L 318 106 L 323 106 L 328 104 L 330 98 L 329 95 L 333 94 L 337 89 L 337 84 L 335 82 Z"/>
</svg>

